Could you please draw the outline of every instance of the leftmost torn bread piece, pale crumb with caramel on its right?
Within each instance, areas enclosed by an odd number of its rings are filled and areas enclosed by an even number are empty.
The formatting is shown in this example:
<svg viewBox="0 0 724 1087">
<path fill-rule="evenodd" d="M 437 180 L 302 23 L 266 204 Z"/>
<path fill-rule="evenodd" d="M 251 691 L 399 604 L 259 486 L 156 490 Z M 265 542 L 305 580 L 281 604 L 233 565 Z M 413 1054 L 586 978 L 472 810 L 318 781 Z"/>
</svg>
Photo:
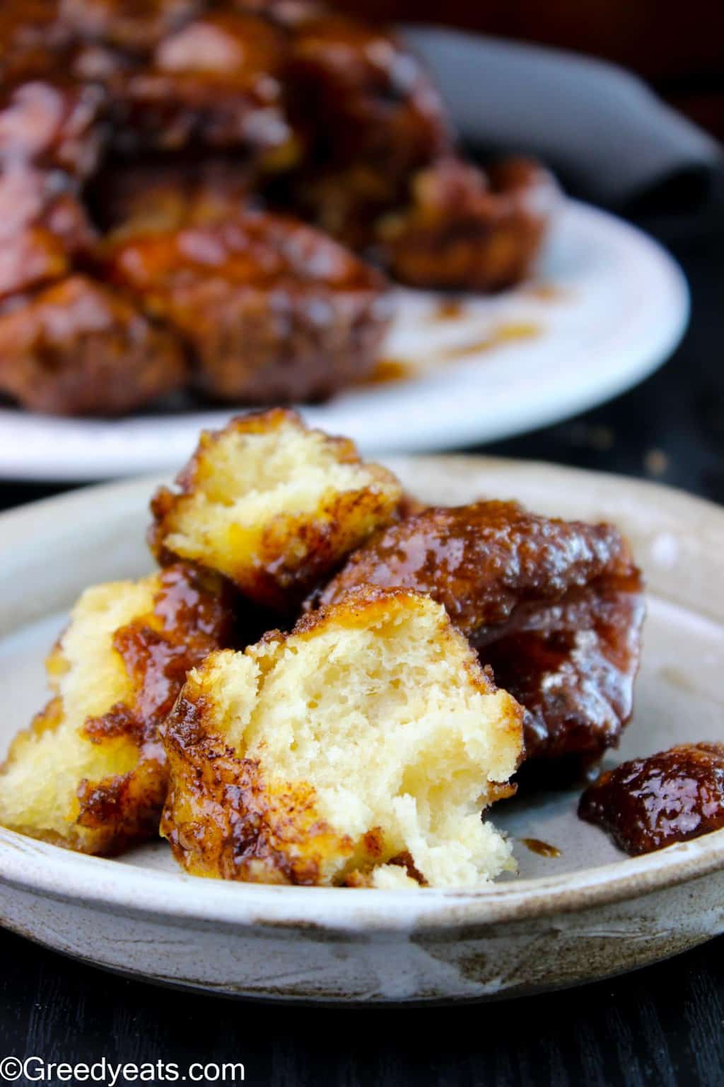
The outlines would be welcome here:
<svg viewBox="0 0 724 1087">
<path fill-rule="evenodd" d="M 178 564 L 82 594 L 48 659 L 54 697 L 0 772 L 2 825 L 86 853 L 156 833 L 167 785 L 158 725 L 187 671 L 229 644 L 228 591 Z"/>
</svg>

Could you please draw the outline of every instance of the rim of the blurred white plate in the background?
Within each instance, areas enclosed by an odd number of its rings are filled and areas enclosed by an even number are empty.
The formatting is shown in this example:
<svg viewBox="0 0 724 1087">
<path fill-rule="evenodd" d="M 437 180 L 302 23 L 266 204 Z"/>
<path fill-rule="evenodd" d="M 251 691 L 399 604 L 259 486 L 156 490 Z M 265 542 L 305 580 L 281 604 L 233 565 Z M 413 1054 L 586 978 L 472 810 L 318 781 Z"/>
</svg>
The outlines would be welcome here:
<svg viewBox="0 0 724 1087">
<path fill-rule="evenodd" d="M 658 315 L 657 322 L 651 323 L 647 328 L 644 337 L 644 348 L 642 348 L 638 342 L 638 339 L 640 339 L 644 334 L 640 330 L 637 333 L 637 339 L 635 340 L 633 351 L 634 363 L 632 364 L 631 361 L 626 361 L 625 365 L 622 366 L 621 364 L 621 358 L 623 357 L 625 360 L 626 350 L 630 350 L 625 341 L 622 343 L 607 343 L 601 349 L 606 365 L 601 365 L 599 363 L 598 368 L 596 368 L 593 363 L 590 365 L 592 373 L 595 373 L 596 375 L 595 380 L 593 380 L 589 375 L 588 380 L 585 384 L 572 386 L 572 390 L 568 395 L 562 395 L 561 388 L 557 386 L 555 389 L 555 397 L 552 393 L 546 395 L 546 386 L 544 384 L 538 390 L 538 395 L 521 399 L 520 404 L 515 411 L 508 411 L 505 416 L 507 420 L 505 425 L 494 425 L 493 422 L 490 422 L 482 436 L 480 427 L 477 425 L 477 421 L 470 415 L 465 417 L 465 425 L 459 425 L 455 429 L 455 433 L 450 433 L 449 428 L 444 428 L 444 430 L 435 429 L 430 420 L 436 418 L 437 415 L 434 413 L 430 414 L 429 409 L 425 407 L 423 411 L 427 412 L 430 417 L 422 428 L 414 430 L 411 439 L 409 439 L 404 447 L 402 445 L 396 447 L 391 446 L 386 449 L 388 452 L 404 455 L 405 453 L 409 454 L 433 449 L 440 451 L 444 451 L 446 449 L 449 450 L 452 448 L 459 449 L 465 445 L 496 441 L 506 437 L 522 435 L 532 429 L 549 426 L 556 422 L 561 422 L 564 418 L 570 418 L 571 416 L 580 414 L 583 411 L 589 410 L 597 404 L 605 403 L 608 400 L 625 392 L 626 390 L 640 384 L 640 382 L 645 380 L 646 377 L 650 376 L 670 359 L 684 336 L 690 315 L 689 288 L 686 276 L 678 262 L 657 239 L 646 234 L 646 232 L 640 229 L 640 227 L 635 224 L 630 223 L 627 220 L 614 215 L 611 212 L 605 211 L 604 209 L 597 208 L 593 204 L 566 197 L 559 214 L 563 216 L 567 213 L 573 216 L 574 220 L 583 217 L 583 220 L 588 223 L 589 229 L 604 229 L 611 237 L 615 236 L 618 238 L 624 238 L 626 243 L 634 243 L 642 259 L 649 262 L 651 267 L 656 267 L 656 275 L 660 280 L 657 285 L 657 298 L 660 298 L 663 292 L 666 304 L 664 305 L 662 303 L 661 312 Z M 583 229 L 585 229 L 585 223 Z M 630 336 L 630 334 L 631 332 L 628 330 L 626 335 Z M 593 357 L 595 360 L 596 351 L 596 343 L 592 342 L 586 349 L 587 358 L 590 360 Z M 612 359 L 618 360 L 615 365 L 611 363 Z M 436 402 L 439 390 L 440 388 L 444 388 L 446 382 L 444 373 L 436 373 L 431 377 L 423 378 L 419 383 L 419 389 L 421 390 L 421 398 L 419 402 L 424 404 L 425 397 L 430 398 L 431 403 Z M 457 388 L 457 385 L 455 388 Z M 364 392 L 365 390 L 363 389 L 361 391 Z M 415 407 L 414 393 L 411 395 L 411 402 L 412 407 Z M 332 400 L 330 403 L 334 405 L 335 401 Z M 560 407 L 561 403 L 562 408 Z M 354 405 L 346 407 L 344 404 L 343 397 L 336 402 L 336 407 L 341 409 L 343 414 L 346 414 L 347 412 L 354 414 Z M 120 420 L 102 421 L 82 418 L 66 420 L 60 416 L 48 416 L 35 414 L 33 412 L 25 412 L 22 409 L 0 407 L 0 478 L 38 482 L 89 482 L 118 477 L 128 474 L 127 459 L 129 450 L 132 451 L 134 446 L 132 428 L 135 428 L 136 425 L 142 420 L 147 421 L 149 427 L 156 426 L 158 428 L 164 428 L 170 434 L 173 433 L 174 421 L 178 418 L 180 420 L 179 433 L 180 428 L 183 427 L 185 429 L 182 434 L 186 436 L 187 428 L 195 433 L 195 430 L 198 430 L 202 425 L 211 424 L 214 426 L 220 426 L 234 413 L 241 414 L 250 410 L 254 410 L 254 408 L 250 405 L 229 404 L 219 409 L 212 409 L 201 405 L 199 411 L 188 414 L 185 413 L 180 416 L 175 416 L 172 413 L 149 414 L 148 416 L 134 414 Z M 300 410 L 303 414 L 307 414 L 310 417 L 315 426 L 322 426 L 331 429 L 345 428 L 344 426 L 340 426 L 335 423 L 333 418 L 327 420 L 325 417 L 325 407 L 317 409 L 314 405 L 302 404 L 300 405 Z M 364 412 L 370 412 L 373 411 L 373 405 L 363 407 L 360 410 Z M 49 459 L 40 459 L 40 461 L 38 461 L 38 459 L 36 459 L 31 463 L 27 463 L 27 461 L 23 461 L 22 458 L 16 454 L 13 455 L 10 452 L 3 454 L 3 441 L 7 442 L 5 448 L 10 450 L 10 439 L 3 439 L 3 424 L 12 424 L 22 430 L 26 421 L 29 428 L 47 421 L 51 426 L 58 427 L 59 440 L 62 439 L 64 429 L 69 433 L 71 428 L 87 427 L 87 433 L 84 437 L 84 442 L 86 442 L 88 447 L 84 447 L 85 465 L 89 462 L 92 463 L 91 453 L 93 443 L 98 443 L 99 440 L 102 441 L 103 435 L 106 433 L 105 427 L 112 426 L 116 428 L 116 433 L 122 436 L 118 440 L 125 440 L 123 458 L 120 458 L 116 452 L 112 452 L 110 457 L 105 454 L 106 460 L 102 462 L 102 467 L 93 470 L 91 474 L 88 475 L 85 474 L 87 467 L 84 471 L 84 468 L 79 466 L 80 453 L 76 453 L 75 457 L 72 457 L 71 461 L 67 460 L 67 457 L 63 460 L 62 458 L 59 459 L 56 455 L 52 461 Z M 123 429 L 124 426 L 128 427 L 128 425 L 130 425 L 131 433 L 129 433 L 124 439 Z M 29 437 L 31 437 L 31 434 L 28 438 Z M 176 437 L 175 440 L 178 441 L 179 438 Z M 361 441 L 360 446 L 365 452 L 381 454 L 385 451 L 384 446 L 380 443 L 380 441 Z M 17 441 L 14 442 L 14 447 L 17 447 Z M 47 458 L 49 457 L 49 454 L 45 455 Z M 122 460 L 124 461 L 123 463 L 120 463 Z M 154 465 L 150 465 L 149 471 L 153 467 Z M 142 463 L 136 461 L 131 462 L 131 471 L 138 470 L 142 472 L 144 468 L 145 465 Z"/>
</svg>

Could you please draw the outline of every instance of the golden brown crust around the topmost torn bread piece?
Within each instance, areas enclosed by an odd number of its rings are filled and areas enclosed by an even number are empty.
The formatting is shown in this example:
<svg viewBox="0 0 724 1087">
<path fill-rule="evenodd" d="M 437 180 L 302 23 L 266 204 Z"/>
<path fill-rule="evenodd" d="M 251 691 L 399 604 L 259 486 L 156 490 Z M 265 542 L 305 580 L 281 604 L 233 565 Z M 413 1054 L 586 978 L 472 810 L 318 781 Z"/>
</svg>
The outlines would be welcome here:
<svg viewBox="0 0 724 1087">
<path fill-rule="evenodd" d="M 244 440 L 250 436 L 276 436 L 281 440 L 284 434 L 300 437 L 302 441 L 305 434 L 315 440 L 321 439 L 330 462 L 361 470 L 364 474 L 343 489 L 330 482 L 312 505 L 307 503 L 285 512 L 282 499 L 282 504 L 274 507 L 274 512 L 256 514 L 258 526 L 247 523 L 234 528 L 231 523 L 223 540 L 236 535 L 237 544 L 229 548 L 228 554 L 226 547 L 212 544 L 207 535 L 202 534 L 204 546 L 186 558 L 220 571 L 257 604 L 293 614 L 313 585 L 329 576 L 354 547 L 395 516 L 402 487 L 386 468 L 361 461 L 348 438 L 308 432 L 296 412 L 280 408 L 231 420 L 221 430 L 203 432 L 193 457 L 176 479 L 178 490 L 174 492 L 162 487 L 151 502 L 154 524 L 149 541 L 161 563 L 175 561 L 174 546 L 179 545 L 174 545 L 173 540 L 182 530 L 185 518 L 194 517 L 194 501 L 211 488 L 212 503 L 232 504 L 231 496 L 224 492 L 224 484 L 219 487 L 214 478 L 215 459 L 221 445 L 234 437 Z M 304 472 L 303 445 L 299 457 L 296 467 Z M 240 462 L 239 467 L 243 470 L 244 465 Z M 258 471 L 257 486 L 264 490 L 263 464 Z M 208 504 L 202 505 L 199 516 L 207 518 L 208 511 Z M 258 534 L 253 541 L 242 541 L 240 529 L 252 532 L 256 527 Z"/>
</svg>

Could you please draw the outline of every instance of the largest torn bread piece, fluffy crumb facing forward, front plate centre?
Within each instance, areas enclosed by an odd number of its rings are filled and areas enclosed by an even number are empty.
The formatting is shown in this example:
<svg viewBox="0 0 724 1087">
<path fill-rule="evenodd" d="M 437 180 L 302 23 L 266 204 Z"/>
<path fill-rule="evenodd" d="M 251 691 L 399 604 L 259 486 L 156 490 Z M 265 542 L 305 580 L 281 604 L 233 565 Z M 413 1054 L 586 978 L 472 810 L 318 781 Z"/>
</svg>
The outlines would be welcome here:
<svg viewBox="0 0 724 1087">
<path fill-rule="evenodd" d="M 512 791 L 520 707 L 419 594 L 361 590 L 212 653 L 164 745 L 162 834 L 194 875 L 456 887 L 515 869 L 481 810 Z"/>
</svg>

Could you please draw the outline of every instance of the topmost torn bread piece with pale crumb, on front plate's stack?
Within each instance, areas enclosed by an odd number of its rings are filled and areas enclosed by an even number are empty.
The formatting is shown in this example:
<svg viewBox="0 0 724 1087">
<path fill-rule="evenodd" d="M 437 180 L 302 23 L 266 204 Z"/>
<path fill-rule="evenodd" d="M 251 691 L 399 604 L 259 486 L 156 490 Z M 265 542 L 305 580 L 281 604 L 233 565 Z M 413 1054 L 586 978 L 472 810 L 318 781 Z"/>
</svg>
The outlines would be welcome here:
<svg viewBox="0 0 724 1087">
<path fill-rule="evenodd" d="M 151 505 L 160 561 L 191 559 L 281 612 L 390 524 L 402 498 L 395 476 L 352 441 L 283 409 L 202 434 L 177 482 Z"/>
</svg>

